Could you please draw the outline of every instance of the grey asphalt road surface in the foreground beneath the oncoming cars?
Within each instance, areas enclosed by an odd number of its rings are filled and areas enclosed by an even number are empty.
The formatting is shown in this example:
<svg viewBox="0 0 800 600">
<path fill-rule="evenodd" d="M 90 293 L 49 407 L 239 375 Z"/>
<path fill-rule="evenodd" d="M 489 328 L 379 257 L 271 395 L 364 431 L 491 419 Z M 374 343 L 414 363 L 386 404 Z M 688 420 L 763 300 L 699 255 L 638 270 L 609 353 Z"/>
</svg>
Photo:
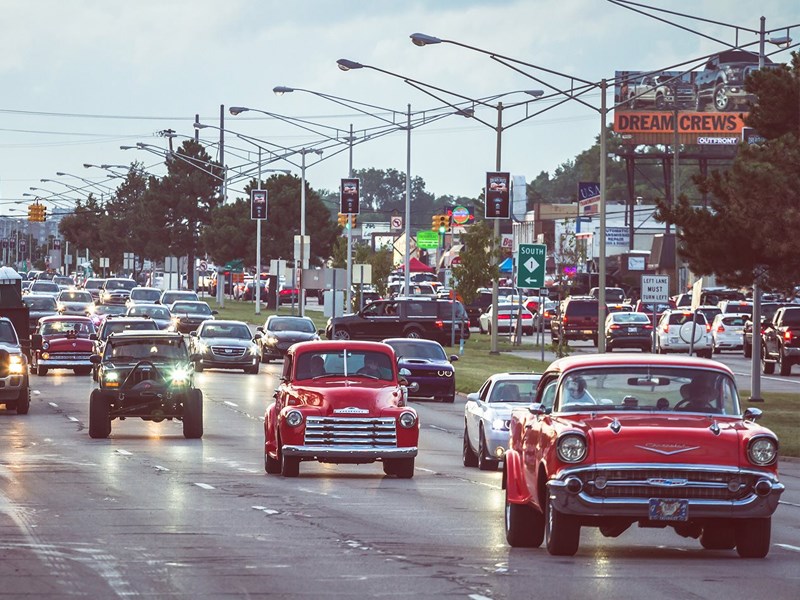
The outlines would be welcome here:
<svg viewBox="0 0 800 600">
<path fill-rule="evenodd" d="M 800 590 L 800 463 L 764 560 L 705 551 L 671 530 L 603 538 L 575 557 L 511 549 L 499 472 L 461 465 L 463 401 L 415 403 L 413 479 L 378 464 L 263 468 L 279 364 L 205 371 L 205 436 L 114 421 L 87 433 L 89 377 L 34 377 L 27 416 L 0 411 L 4 598 L 762 598 Z"/>
</svg>

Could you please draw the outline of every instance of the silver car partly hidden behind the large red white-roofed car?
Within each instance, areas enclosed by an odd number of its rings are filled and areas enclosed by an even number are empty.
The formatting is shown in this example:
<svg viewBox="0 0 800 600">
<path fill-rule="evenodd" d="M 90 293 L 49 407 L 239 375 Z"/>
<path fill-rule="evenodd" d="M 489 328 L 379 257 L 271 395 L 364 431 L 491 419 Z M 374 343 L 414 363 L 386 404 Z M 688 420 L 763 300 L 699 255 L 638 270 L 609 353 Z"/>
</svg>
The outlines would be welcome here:
<svg viewBox="0 0 800 600">
<path fill-rule="evenodd" d="M 539 379 L 536 373 L 495 373 L 467 395 L 461 451 L 465 467 L 497 469 L 508 449 L 511 412 L 533 401 Z"/>
</svg>

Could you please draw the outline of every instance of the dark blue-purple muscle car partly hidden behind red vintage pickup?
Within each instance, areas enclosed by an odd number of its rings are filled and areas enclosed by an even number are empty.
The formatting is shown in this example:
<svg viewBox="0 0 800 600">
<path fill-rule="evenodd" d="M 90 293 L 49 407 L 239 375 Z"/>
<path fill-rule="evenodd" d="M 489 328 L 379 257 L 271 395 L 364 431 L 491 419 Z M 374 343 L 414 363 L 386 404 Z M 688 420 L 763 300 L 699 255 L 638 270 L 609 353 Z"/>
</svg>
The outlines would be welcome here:
<svg viewBox="0 0 800 600">
<path fill-rule="evenodd" d="M 397 365 L 406 370 L 406 380 L 416 383 L 409 391 L 409 399 L 435 400 L 452 404 L 456 400 L 456 370 L 453 363 L 457 354 L 450 356 L 439 342 L 433 340 L 410 340 L 408 338 L 386 338 L 397 356 Z"/>
</svg>

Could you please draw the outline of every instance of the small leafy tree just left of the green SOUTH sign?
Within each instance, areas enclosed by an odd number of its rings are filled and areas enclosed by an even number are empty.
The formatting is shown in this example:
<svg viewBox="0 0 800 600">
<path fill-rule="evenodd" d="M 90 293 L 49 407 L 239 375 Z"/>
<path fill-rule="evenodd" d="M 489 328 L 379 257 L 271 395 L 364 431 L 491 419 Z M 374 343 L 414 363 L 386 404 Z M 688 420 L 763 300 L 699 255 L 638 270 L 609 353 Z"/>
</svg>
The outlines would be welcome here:
<svg viewBox="0 0 800 600">
<path fill-rule="evenodd" d="M 456 292 L 465 304 L 472 302 L 478 288 L 490 285 L 499 276 L 500 249 L 492 243 L 492 234 L 492 227 L 486 221 L 477 221 L 461 234 L 464 245 L 458 255 L 460 262 L 453 265 L 453 277 L 457 282 Z"/>
</svg>

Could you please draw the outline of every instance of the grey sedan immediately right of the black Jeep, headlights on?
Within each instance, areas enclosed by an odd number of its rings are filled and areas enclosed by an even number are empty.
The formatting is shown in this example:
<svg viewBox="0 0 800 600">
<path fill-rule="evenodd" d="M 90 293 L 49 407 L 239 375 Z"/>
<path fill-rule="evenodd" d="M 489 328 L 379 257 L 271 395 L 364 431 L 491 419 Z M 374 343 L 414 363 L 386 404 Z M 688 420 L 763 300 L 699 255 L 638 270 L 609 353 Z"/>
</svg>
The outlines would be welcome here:
<svg viewBox="0 0 800 600">
<path fill-rule="evenodd" d="M 189 351 L 198 373 L 204 369 L 242 369 L 258 374 L 260 352 L 244 321 L 204 321 L 189 336 Z"/>
</svg>

